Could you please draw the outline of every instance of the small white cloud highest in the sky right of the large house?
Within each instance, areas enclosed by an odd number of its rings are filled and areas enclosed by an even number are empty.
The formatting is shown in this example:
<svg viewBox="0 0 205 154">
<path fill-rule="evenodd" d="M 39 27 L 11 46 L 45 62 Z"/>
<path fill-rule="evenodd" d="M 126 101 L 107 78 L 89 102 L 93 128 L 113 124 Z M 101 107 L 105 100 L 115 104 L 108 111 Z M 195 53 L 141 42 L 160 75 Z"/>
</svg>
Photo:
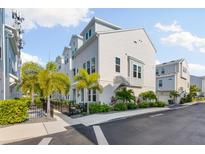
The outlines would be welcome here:
<svg viewBox="0 0 205 154">
<path fill-rule="evenodd" d="M 181 26 L 178 25 L 176 21 L 174 21 L 174 23 L 172 23 L 171 25 L 163 25 L 163 24 L 158 22 L 155 24 L 155 28 L 157 28 L 160 31 L 164 31 L 164 32 L 181 32 L 181 31 L 183 31 Z"/>
</svg>

